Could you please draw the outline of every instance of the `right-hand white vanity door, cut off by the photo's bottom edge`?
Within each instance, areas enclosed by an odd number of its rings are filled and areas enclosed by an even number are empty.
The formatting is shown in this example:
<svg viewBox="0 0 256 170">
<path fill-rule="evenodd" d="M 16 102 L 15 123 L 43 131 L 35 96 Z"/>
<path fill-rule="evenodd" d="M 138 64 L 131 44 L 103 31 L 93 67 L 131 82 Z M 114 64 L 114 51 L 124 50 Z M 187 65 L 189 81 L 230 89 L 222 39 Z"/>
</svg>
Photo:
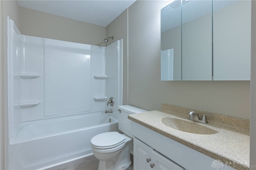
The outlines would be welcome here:
<svg viewBox="0 0 256 170">
<path fill-rule="evenodd" d="M 154 170 L 185 170 L 183 167 L 176 164 L 175 162 L 160 154 L 159 152 L 156 152 L 155 150 L 152 150 L 151 156 L 153 163 L 151 163 L 150 166 Z"/>
</svg>

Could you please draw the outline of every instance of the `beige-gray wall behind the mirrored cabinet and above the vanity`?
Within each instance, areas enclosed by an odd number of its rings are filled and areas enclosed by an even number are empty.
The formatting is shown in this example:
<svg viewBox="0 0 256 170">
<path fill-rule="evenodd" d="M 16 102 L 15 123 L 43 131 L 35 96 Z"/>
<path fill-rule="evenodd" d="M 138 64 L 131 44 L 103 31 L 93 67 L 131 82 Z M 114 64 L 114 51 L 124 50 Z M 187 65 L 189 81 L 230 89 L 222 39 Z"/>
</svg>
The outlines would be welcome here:
<svg viewBox="0 0 256 170">
<path fill-rule="evenodd" d="M 168 103 L 249 119 L 249 81 L 160 81 L 160 9 L 167 4 L 138 0 L 128 8 L 128 104 L 155 110 Z M 118 28 L 112 29 L 115 37 Z"/>
</svg>

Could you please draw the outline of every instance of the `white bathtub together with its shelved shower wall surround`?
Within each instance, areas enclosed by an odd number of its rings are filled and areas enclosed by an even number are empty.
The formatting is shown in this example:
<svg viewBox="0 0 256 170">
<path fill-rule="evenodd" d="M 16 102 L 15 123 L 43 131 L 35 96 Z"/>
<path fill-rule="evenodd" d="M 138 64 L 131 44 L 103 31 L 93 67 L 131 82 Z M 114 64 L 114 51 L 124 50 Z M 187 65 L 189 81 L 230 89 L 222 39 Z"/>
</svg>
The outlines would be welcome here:
<svg viewBox="0 0 256 170">
<path fill-rule="evenodd" d="M 90 155 L 94 135 L 118 130 L 122 40 L 99 47 L 32 37 L 8 19 L 8 42 L 10 170 Z M 110 97 L 114 106 L 107 106 Z"/>
</svg>

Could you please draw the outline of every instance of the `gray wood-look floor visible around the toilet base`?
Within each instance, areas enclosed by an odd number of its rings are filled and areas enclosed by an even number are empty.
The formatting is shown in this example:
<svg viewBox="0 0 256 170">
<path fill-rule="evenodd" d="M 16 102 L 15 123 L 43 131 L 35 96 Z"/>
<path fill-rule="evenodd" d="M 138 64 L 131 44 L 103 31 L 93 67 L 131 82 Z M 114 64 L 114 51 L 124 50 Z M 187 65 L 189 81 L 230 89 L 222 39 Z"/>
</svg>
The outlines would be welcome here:
<svg viewBox="0 0 256 170">
<path fill-rule="evenodd" d="M 131 155 L 131 160 L 133 156 Z M 132 161 L 133 162 L 133 161 Z M 99 160 L 94 155 L 74 160 L 66 164 L 54 166 L 46 170 L 98 170 Z M 133 164 L 127 169 L 133 170 Z"/>
</svg>

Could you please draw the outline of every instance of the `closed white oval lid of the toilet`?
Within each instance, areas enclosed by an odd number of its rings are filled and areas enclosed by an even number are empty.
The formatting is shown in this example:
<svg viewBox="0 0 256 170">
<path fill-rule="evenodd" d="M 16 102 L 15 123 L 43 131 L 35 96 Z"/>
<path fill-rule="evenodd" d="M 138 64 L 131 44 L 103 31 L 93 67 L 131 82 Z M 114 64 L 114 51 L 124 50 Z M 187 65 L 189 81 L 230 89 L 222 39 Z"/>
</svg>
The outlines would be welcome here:
<svg viewBox="0 0 256 170">
<path fill-rule="evenodd" d="M 111 148 L 124 143 L 124 136 L 118 132 L 106 132 L 94 136 L 91 144 L 97 148 Z"/>
</svg>

